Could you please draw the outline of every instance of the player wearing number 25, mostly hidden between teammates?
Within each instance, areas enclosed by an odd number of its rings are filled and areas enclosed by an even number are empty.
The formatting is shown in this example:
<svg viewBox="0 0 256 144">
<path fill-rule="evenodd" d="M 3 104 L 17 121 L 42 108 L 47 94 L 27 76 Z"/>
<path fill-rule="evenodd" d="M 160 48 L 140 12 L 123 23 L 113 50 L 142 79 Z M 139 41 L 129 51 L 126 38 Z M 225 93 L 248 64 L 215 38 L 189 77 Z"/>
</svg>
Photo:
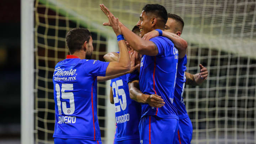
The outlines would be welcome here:
<svg viewBox="0 0 256 144">
<path fill-rule="evenodd" d="M 139 35 L 139 28 L 134 26 L 132 32 Z M 133 50 L 129 50 L 133 53 Z M 134 53 L 136 53 L 134 51 Z M 104 55 L 107 62 L 118 60 L 119 52 L 111 52 Z M 133 61 L 135 57 L 132 58 Z M 139 65 L 138 65 L 139 66 Z M 130 71 L 131 73 L 132 71 Z M 129 96 L 126 75 L 111 79 L 110 84 L 110 102 L 114 104 L 116 115 L 116 133 L 114 144 L 139 144 L 139 121 L 141 116 L 141 106 L 138 102 L 132 100 Z"/>
</svg>

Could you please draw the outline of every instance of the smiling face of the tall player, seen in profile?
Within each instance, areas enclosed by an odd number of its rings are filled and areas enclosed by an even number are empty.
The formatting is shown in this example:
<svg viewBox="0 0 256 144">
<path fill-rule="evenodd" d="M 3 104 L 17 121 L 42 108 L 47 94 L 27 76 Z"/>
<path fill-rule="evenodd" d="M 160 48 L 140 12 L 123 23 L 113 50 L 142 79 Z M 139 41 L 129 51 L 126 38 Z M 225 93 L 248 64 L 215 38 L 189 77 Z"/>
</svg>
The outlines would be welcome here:
<svg viewBox="0 0 256 144">
<path fill-rule="evenodd" d="M 140 14 L 140 20 L 137 23 L 137 27 L 140 30 L 140 37 L 143 37 L 144 34 L 153 31 L 151 17 L 147 16 L 144 11 Z"/>
</svg>

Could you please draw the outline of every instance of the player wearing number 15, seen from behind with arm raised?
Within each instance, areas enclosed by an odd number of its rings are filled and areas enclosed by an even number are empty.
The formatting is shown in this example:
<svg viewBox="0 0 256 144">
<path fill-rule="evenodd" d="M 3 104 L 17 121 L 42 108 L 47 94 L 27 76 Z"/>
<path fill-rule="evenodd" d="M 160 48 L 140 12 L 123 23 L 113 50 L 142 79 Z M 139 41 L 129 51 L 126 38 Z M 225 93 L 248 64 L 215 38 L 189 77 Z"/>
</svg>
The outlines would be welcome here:
<svg viewBox="0 0 256 144">
<path fill-rule="evenodd" d="M 55 144 L 101 144 L 97 120 L 97 76 L 130 70 L 130 58 L 118 21 L 109 17 L 118 36 L 119 61 L 90 60 L 93 46 L 89 30 L 74 28 L 66 35 L 71 55 L 55 66 Z"/>
</svg>

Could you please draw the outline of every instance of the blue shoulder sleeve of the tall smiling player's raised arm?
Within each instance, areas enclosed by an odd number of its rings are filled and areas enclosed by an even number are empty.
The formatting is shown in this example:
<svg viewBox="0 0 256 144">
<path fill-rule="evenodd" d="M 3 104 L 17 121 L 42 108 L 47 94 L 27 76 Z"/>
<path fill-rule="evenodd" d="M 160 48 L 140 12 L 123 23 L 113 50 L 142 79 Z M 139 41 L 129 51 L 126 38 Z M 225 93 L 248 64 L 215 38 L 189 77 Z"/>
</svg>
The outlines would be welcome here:
<svg viewBox="0 0 256 144">
<path fill-rule="evenodd" d="M 158 55 L 165 55 L 167 51 L 171 50 L 174 47 L 174 44 L 170 39 L 166 37 L 154 37 L 150 39 L 151 42 L 155 43 L 158 48 Z"/>
</svg>

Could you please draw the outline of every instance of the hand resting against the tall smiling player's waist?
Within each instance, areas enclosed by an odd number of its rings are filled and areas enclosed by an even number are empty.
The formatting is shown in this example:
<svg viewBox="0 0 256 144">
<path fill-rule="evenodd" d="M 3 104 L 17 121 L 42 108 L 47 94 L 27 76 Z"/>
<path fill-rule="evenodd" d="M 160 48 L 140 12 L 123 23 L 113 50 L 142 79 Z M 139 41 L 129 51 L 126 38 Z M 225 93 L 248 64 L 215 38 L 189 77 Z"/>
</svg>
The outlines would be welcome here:
<svg viewBox="0 0 256 144">
<path fill-rule="evenodd" d="M 145 94 L 144 94 L 145 95 Z M 145 95 L 147 97 L 146 102 L 151 106 L 151 107 L 162 107 L 164 106 L 165 102 L 164 99 L 161 98 L 161 96 L 158 96 L 156 94 L 153 95 Z"/>
</svg>

